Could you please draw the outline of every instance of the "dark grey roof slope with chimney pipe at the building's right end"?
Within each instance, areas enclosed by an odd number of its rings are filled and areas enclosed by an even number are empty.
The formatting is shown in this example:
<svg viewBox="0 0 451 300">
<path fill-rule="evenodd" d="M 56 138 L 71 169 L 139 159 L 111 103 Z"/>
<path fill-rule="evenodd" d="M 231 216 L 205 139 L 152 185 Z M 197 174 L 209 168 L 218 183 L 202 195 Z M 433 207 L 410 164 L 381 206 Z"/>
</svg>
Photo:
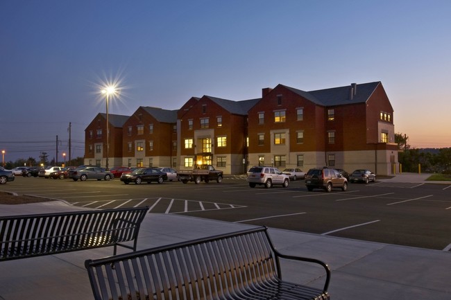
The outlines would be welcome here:
<svg viewBox="0 0 451 300">
<path fill-rule="evenodd" d="M 300 96 L 303 96 L 317 105 L 334 106 L 353 103 L 366 103 L 380 83 L 380 81 L 376 81 L 356 85 L 357 91 L 355 95 L 352 96 L 352 99 L 350 98 L 351 85 L 346 85 L 344 87 L 332 87 L 330 89 L 318 89 L 316 91 L 301 91 L 300 89 L 294 89 L 293 87 L 287 87 L 285 85 L 282 86 Z"/>
</svg>

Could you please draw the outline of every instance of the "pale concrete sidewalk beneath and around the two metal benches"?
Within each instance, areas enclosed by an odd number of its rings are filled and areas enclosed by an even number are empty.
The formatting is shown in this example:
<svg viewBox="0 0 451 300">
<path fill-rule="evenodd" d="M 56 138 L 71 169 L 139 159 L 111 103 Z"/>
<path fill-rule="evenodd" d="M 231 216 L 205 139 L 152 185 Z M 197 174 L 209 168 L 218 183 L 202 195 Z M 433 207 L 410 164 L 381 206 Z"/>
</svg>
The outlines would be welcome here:
<svg viewBox="0 0 451 300">
<path fill-rule="evenodd" d="M 1 215 L 81 209 L 65 202 L 0 205 Z M 182 215 L 146 215 L 138 249 L 252 227 Z M 332 270 L 330 295 L 345 299 L 451 299 L 451 252 L 362 242 L 270 229 L 281 252 L 325 261 Z M 119 247 L 119 253 L 127 252 Z M 87 258 L 112 255 L 112 247 L 0 263 L 0 299 L 92 299 Z M 315 286 L 318 272 L 284 265 L 284 279 Z"/>
</svg>

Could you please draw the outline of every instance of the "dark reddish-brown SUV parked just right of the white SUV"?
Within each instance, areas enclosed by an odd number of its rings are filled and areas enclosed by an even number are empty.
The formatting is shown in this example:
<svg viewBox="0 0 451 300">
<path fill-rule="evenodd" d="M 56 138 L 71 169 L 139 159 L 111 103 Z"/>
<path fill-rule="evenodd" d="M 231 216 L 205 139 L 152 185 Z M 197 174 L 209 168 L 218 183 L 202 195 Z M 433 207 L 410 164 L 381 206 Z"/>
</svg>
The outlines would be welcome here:
<svg viewBox="0 0 451 300">
<path fill-rule="evenodd" d="M 312 168 L 305 175 L 305 186 L 308 191 L 313 191 L 314 188 L 322 188 L 326 192 L 332 191 L 332 188 L 341 188 L 342 191 L 346 191 L 348 179 L 334 169 Z"/>
</svg>

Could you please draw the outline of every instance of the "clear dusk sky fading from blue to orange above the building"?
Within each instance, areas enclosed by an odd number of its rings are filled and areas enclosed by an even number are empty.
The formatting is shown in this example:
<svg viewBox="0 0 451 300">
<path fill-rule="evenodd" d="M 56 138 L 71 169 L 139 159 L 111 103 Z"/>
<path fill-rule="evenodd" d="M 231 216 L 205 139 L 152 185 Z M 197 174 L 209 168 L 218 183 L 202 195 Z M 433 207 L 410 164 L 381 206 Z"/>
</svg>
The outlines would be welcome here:
<svg viewBox="0 0 451 300">
<path fill-rule="evenodd" d="M 395 132 L 451 147 L 451 1 L 0 1 L 0 149 L 6 161 L 83 157 L 109 113 L 192 96 L 259 98 L 381 81 Z M 58 142 L 57 142 L 58 136 Z"/>
</svg>

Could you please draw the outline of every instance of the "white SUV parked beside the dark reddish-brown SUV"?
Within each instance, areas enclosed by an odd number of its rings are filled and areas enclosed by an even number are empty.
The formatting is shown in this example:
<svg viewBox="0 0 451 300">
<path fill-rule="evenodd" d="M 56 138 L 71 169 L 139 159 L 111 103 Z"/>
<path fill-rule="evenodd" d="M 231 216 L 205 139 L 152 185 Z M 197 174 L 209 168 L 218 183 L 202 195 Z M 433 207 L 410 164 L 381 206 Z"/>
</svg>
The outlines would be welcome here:
<svg viewBox="0 0 451 300">
<path fill-rule="evenodd" d="M 273 184 L 282 184 L 286 188 L 290 182 L 289 176 L 280 172 L 278 168 L 254 166 L 248 170 L 248 178 L 251 188 L 257 184 L 264 184 L 265 188 L 271 188 Z"/>
</svg>

